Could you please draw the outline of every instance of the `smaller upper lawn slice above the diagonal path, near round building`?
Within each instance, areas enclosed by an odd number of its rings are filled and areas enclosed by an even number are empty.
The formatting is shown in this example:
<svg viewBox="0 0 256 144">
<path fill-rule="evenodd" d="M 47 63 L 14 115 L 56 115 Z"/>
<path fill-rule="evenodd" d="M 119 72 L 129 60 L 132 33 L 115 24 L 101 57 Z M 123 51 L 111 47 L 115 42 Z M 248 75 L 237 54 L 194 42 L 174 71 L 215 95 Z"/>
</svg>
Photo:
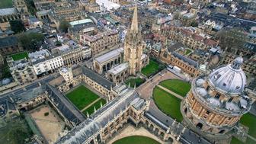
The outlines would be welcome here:
<svg viewBox="0 0 256 144">
<path fill-rule="evenodd" d="M 170 91 L 180 94 L 185 97 L 187 92 L 190 91 L 191 85 L 189 82 L 184 82 L 179 79 L 168 79 L 160 82 L 161 86 L 168 88 Z"/>
</svg>

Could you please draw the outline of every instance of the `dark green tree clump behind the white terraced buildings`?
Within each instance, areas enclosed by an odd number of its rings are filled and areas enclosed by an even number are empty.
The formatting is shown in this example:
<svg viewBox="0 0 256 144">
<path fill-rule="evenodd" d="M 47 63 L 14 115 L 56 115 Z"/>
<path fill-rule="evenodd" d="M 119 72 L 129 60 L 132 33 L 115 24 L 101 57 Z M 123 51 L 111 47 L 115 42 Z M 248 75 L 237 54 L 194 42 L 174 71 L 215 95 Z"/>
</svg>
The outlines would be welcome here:
<svg viewBox="0 0 256 144">
<path fill-rule="evenodd" d="M 18 40 L 25 50 L 39 50 L 43 45 L 43 34 L 40 33 L 23 33 L 18 35 Z"/>
</svg>

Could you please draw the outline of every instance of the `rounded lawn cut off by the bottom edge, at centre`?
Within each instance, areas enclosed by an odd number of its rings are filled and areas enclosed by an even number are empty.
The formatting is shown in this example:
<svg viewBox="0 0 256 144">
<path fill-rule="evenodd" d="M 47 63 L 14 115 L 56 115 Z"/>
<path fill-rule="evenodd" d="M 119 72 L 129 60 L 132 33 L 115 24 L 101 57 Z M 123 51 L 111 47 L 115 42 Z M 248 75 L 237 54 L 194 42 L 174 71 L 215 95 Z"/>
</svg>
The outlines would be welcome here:
<svg viewBox="0 0 256 144">
<path fill-rule="evenodd" d="M 118 139 L 113 144 L 160 144 L 155 139 L 146 136 L 128 136 L 123 139 Z"/>
</svg>

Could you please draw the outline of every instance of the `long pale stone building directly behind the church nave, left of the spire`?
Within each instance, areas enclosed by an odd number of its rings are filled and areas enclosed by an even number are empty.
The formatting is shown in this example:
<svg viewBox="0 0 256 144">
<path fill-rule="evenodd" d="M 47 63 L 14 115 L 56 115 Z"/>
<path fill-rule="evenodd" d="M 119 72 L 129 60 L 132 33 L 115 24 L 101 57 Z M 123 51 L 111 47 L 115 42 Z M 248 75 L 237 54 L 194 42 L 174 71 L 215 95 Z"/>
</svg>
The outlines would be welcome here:
<svg viewBox="0 0 256 144">
<path fill-rule="evenodd" d="M 119 34 L 115 30 L 107 30 L 104 33 L 99 33 L 94 36 L 88 34 L 80 35 L 80 42 L 91 47 L 92 56 L 104 50 L 118 48 L 120 44 L 119 39 Z"/>
</svg>

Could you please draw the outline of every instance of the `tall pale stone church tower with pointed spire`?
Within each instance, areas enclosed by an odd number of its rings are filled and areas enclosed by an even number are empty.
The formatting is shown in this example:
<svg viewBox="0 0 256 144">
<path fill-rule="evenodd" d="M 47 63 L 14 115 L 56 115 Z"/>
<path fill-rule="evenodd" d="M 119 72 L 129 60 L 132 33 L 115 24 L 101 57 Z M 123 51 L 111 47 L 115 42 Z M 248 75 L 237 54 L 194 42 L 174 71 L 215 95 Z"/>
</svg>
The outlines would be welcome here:
<svg viewBox="0 0 256 144">
<path fill-rule="evenodd" d="M 137 6 L 133 11 L 133 21 L 130 30 L 127 31 L 124 40 L 124 62 L 129 62 L 130 75 L 136 75 L 142 69 L 142 50 L 146 44 L 142 40 L 141 31 L 138 27 Z"/>
</svg>

